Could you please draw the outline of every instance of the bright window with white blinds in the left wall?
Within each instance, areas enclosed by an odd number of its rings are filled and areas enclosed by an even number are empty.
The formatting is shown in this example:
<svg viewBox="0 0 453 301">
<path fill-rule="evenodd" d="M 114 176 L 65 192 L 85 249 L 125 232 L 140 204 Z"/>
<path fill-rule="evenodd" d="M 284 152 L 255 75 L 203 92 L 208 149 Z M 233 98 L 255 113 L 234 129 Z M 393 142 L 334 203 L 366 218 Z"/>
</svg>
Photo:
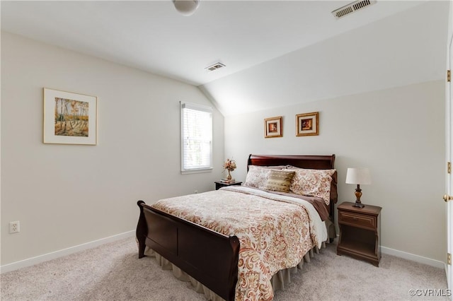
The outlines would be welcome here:
<svg viewBox="0 0 453 301">
<path fill-rule="evenodd" d="M 181 102 L 181 172 L 212 170 L 212 108 Z"/>
</svg>

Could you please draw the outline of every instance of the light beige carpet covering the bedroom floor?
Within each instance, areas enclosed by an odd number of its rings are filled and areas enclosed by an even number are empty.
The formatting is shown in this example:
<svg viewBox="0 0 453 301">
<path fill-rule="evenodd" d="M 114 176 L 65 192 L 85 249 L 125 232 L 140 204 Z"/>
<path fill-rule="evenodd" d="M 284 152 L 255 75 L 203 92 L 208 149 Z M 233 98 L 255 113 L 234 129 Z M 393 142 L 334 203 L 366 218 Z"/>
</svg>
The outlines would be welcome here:
<svg viewBox="0 0 453 301">
<path fill-rule="evenodd" d="M 379 268 L 337 256 L 328 244 L 292 276 L 275 301 L 448 300 L 411 297 L 411 289 L 447 292 L 445 271 L 382 255 Z M 36 266 L 1 274 L 2 301 L 8 300 L 205 300 L 190 283 L 178 281 L 151 258 L 138 259 L 134 238 L 105 244 Z"/>
</svg>

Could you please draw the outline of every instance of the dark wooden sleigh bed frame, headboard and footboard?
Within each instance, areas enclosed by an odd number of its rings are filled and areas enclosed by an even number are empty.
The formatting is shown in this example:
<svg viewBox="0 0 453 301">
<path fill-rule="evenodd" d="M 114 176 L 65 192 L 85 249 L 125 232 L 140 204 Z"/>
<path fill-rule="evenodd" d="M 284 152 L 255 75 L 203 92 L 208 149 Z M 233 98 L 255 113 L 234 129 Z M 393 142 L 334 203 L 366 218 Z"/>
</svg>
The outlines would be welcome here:
<svg viewBox="0 0 453 301">
<path fill-rule="evenodd" d="M 335 155 L 249 155 L 249 165 L 333 169 Z M 338 199 L 337 174 L 331 182 L 331 201 L 328 207 L 333 222 L 334 204 Z M 154 249 L 172 264 L 188 273 L 224 300 L 234 300 L 238 280 L 239 239 L 171 216 L 138 201 L 137 224 L 139 258 L 145 247 Z"/>
</svg>

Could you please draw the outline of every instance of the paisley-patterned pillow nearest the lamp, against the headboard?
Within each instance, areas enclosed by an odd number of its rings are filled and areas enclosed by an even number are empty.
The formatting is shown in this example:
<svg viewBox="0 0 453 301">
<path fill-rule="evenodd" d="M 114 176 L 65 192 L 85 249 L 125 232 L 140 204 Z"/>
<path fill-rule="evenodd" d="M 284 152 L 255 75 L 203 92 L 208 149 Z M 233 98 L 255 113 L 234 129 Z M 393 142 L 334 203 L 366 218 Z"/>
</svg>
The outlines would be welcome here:
<svg viewBox="0 0 453 301">
<path fill-rule="evenodd" d="M 309 170 L 287 166 L 284 170 L 296 172 L 289 191 L 304 196 L 318 196 L 326 205 L 331 202 L 331 181 L 336 170 Z"/>
</svg>

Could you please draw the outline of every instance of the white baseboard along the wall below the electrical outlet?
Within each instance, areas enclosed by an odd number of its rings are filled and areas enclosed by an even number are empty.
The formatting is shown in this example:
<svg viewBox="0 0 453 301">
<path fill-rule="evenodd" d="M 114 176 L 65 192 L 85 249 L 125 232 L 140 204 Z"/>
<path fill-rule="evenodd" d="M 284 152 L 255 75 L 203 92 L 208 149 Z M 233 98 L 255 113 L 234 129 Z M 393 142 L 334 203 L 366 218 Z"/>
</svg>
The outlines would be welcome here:
<svg viewBox="0 0 453 301">
<path fill-rule="evenodd" d="M 13 262 L 12 264 L 5 264 L 4 266 L 0 266 L 0 273 L 16 271 L 19 268 L 25 268 L 26 266 L 33 266 L 35 264 L 40 264 L 41 262 L 44 262 L 44 261 L 57 259 L 62 256 L 67 256 L 69 254 L 84 251 L 86 249 L 98 247 L 101 244 L 107 244 L 108 242 L 115 242 L 116 240 L 122 240 L 123 238 L 127 238 L 127 237 L 134 237 L 134 235 L 135 235 L 135 230 L 131 230 L 128 232 L 120 233 L 118 235 L 101 238 L 101 240 L 94 240 L 93 242 L 86 242 L 85 244 L 79 244 L 77 246 L 69 247 L 67 249 L 62 249 L 62 250 L 47 253 L 44 255 L 35 256 L 35 257 L 29 258 L 29 259 L 24 259 L 21 261 L 16 261 L 16 262 Z"/>
</svg>

